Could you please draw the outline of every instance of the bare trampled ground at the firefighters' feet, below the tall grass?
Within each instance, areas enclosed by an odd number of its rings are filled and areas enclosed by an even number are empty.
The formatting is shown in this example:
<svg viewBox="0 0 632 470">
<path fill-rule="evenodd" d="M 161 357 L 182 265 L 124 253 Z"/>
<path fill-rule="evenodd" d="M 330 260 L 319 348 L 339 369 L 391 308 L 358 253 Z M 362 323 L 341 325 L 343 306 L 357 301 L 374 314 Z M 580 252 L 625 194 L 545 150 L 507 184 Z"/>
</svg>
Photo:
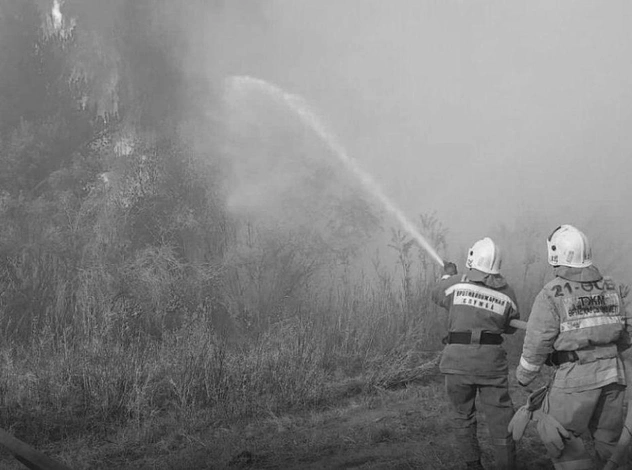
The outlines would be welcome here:
<svg viewBox="0 0 632 470">
<path fill-rule="evenodd" d="M 74 469 L 459 469 L 462 458 L 449 432 L 443 379 L 400 390 L 351 393 L 309 413 L 241 424 L 216 423 L 196 432 L 169 432 L 152 444 L 131 446 L 124 436 L 82 442 L 53 453 Z M 512 387 L 515 404 L 526 400 Z M 165 423 L 165 426 L 169 426 Z M 483 464 L 491 466 L 484 418 L 479 421 Z M 45 450 L 45 449 L 42 449 Z M 56 455 L 55 455 L 56 454 Z M 530 425 L 518 445 L 522 469 L 552 468 Z M 10 456 L 1 469 L 24 468 Z"/>
</svg>

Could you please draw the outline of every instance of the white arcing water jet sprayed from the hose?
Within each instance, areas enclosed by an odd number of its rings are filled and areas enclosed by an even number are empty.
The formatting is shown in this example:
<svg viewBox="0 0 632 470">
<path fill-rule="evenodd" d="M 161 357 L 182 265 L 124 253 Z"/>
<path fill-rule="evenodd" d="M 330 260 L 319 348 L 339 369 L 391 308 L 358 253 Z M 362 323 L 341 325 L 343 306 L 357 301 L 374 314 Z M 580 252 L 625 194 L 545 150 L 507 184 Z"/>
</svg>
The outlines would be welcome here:
<svg viewBox="0 0 632 470">
<path fill-rule="evenodd" d="M 228 79 L 229 96 L 234 94 L 244 94 L 249 91 L 258 91 L 269 95 L 270 97 L 284 102 L 301 121 L 310 129 L 312 129 L 325 142 L 333 154 L 342 162 L 342 164 L 358 179 L 364 190 L 377 199 L 382 207 L 386 209 L 397 221 L 402 228 L 434 259 L 440 266 L 443 266 L 443 260 L 428 243 L 428 241 L 419 233 L 415 226 L 408 220 L 404 213 L 384 194 L 377 182 L 364 171 L 349 156 L 345 148 L 338 143 L 337 139 L 331 132 L 327 130 L 318 116 L 309 108 L 307 103 L 296 95 L 284 92 L 280 88 L 272 85 L 265 80 L 250 76 L 236 76 Z"/>
</svg>

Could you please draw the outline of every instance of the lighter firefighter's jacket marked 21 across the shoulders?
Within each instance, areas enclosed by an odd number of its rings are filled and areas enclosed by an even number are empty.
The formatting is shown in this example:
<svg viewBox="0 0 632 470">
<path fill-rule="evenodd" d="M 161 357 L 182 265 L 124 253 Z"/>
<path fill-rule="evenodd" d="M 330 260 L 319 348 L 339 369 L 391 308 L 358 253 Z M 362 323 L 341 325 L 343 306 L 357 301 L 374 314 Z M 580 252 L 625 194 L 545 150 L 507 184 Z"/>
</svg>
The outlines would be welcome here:
<svg viewBox="0 0 632 470">
<path fill-rule="evenodd" d="M 533 303 L 516 377 L 529 384 L 553 351 L 574 351 L 552 386 L 585 391 L 610 383 L 625 385 L 618 352 L 630 347 L 632 318 L 622 287 L 595 266 L 555 268 Z"/>
</svg>

